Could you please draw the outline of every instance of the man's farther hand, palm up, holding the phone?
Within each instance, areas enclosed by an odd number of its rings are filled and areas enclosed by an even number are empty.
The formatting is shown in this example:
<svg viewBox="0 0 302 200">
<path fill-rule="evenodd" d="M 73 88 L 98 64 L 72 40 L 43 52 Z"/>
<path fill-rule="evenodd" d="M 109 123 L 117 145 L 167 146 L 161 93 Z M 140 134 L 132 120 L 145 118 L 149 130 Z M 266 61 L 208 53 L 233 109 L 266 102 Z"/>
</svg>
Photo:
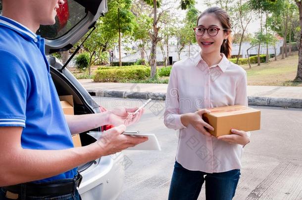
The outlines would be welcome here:
<svg viewBox="0 0 302 200">
<path fill-rule="evenodd" d="M 108 123 L 114 126 L 124 124 L 130 126 L 141 119 L 144 109 L 141 109 L 137 114 L 133 114 L 138 108 L 115 108 L 108 111 Z"/>
</svg>

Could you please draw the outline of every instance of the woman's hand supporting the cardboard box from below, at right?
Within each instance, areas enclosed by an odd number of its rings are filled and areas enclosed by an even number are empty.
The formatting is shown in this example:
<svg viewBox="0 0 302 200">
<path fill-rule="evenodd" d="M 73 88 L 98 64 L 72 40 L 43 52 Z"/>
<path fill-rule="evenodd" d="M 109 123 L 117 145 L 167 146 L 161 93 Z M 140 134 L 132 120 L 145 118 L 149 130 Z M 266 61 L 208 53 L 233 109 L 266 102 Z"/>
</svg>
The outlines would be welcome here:
<svg viewBox="0 0 302 200">
<path fill-rule="evenodd" d="M 250 138 L 247 136 L 247 132 L 243 130 L 232 129 L 233 134 L 222 135 L 217 137 L 218 140 L 228 142 L 230 144 L 246 145 L 250 142 Z"/>
</svg>

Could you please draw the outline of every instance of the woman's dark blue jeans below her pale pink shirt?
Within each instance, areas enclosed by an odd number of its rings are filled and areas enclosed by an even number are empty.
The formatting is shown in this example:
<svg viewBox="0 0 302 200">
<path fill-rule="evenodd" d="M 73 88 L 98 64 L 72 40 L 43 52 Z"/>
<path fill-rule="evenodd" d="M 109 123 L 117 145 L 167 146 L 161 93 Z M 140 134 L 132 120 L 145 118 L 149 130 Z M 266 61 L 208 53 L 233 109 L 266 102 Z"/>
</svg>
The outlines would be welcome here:
<svg viewBox="0 0 302 200">
<path fill-rule="evenodd" d="M 185 169 L 175 161 L 168 200 L 197 200 L 204 181 L 206 200 L 232 200 L 239 177 L 240 169 L 205 173 Z"/>
</svg>

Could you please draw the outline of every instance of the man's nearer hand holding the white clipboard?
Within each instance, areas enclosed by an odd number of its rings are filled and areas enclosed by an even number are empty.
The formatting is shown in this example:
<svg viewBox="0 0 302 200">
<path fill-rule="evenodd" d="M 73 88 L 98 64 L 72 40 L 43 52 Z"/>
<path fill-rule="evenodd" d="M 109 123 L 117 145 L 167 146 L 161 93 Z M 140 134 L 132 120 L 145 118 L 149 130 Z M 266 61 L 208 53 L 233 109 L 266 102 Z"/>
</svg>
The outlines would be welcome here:
<svg viewBox="0 0 302 200">
<path fill-rule="evenodd" d="M 134 147 L 148 140 L 147 137 L 131 137 L 121 134 L 126 130 L 125 125 L 119 125 L 106 130 L 101 138 L 95 142 L 96 148 L 101 152 L 101 156 L 107 156 L 121 152 L 128 147 Z"/>
</svg>

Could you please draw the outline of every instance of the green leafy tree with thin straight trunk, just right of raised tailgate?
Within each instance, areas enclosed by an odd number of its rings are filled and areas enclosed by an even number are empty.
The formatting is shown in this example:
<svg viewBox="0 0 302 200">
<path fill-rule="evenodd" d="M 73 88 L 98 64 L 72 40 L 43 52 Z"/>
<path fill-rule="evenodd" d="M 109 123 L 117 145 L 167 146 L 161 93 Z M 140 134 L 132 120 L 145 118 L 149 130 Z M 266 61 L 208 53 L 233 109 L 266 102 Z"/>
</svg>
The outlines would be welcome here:
<svg viewBox="0 0 302 200">
<path fill-rule="evenodd" d="M 103 23 L 107 32 L 118 33 L 119 66 L 122 66 L 121 40 L 123 35 L 131 35 L 135 26 L 135 16 L 131 12 L 131 0 L 109 0 L 108 12 Z"/>
</svg>

